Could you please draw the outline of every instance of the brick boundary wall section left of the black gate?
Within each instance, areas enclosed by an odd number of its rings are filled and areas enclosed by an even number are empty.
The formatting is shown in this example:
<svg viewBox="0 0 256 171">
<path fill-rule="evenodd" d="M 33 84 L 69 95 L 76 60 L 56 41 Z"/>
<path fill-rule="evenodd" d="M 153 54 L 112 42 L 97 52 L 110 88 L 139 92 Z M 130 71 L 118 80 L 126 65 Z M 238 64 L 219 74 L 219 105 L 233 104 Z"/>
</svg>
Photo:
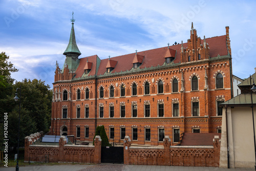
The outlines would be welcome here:
<svg viewBox="0 0 256 171">
<path fill-rule="evenodd" d="M 67 145 L 65 136 L 59 145 L 32 145 L 38 137 L 25 137 L 25 162 L 101 163 L 101 138 L 95 137 L 95 145 Z"/>
</svg>

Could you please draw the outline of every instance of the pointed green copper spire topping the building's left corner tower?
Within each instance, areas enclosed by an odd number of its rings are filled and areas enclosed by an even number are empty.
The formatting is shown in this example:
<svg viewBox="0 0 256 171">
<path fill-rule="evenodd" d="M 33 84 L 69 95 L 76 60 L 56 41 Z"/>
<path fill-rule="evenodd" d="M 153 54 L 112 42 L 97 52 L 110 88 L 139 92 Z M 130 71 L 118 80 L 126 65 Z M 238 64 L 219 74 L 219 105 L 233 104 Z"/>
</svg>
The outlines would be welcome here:
<svg viewBox="0 0 256 171">
<path fill-rule="evenodd" d="M 76 36 L 75 36 L 75 30 L 74 30 L 75 19 L 74 19 L 73 15 L 74 15 L 74 12 L 72 14 L 72 19 L 70 19 L 72 22 L 72 28 L 71 28 L 70 38 L 69 38 L 69 45 L 68 45 L 66 51 L 63 53 L 63 55 L 67 55 L 68 53 L 75 53 L 79 56 L 79 55 L 81 55 L 81 52 L 79 51 L 79 49 L 76 45 Z"/>
</svg>

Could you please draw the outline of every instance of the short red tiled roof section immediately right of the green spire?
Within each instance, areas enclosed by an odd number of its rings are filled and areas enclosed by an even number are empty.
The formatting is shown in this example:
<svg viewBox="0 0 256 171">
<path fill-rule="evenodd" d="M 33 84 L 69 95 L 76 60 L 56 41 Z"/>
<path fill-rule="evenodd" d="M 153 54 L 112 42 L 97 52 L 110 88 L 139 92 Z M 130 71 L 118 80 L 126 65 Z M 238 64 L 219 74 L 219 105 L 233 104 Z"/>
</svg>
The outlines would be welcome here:
<svg viewBox="0 0 256 171">
<path fill-rule="evenodd" d="M 75 78 L 79 78 L 83 75 L 84 67 L 86 66 L 87 59 L 88 59 L 88 62 L 92 63 L 92 69 L 91 69 L 90 73 L 88 74 L 88 76 L 95 75 L 96 74 L 97 58 L 98 58 L 97 55 L 81 58 L 80 62 L 79 62 L 79 66 L 77 67 L 77 70 L 76 70 Z"/>
</svg>

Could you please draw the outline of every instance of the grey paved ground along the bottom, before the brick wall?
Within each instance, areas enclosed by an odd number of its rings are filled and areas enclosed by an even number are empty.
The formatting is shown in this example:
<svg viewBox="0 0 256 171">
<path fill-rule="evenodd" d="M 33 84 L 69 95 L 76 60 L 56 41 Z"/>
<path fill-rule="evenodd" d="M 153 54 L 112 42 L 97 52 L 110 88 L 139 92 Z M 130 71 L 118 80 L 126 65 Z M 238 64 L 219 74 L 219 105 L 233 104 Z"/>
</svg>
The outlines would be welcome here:
<svg viewBox="0 0 256 171">
<path fill-rule="evenodd" d="M 13 171 L 15 167 L 0 167 L 1 171 Z M 183 166 L 146 166 L 146 165 L 124 165 L 124 164 L 96 164 L 96 165 L 38 165 L 20 166 L 20 171 L 251 171 L 254 168 L 219 168 L 219 167 L 183 167 Z"/>
</svg>

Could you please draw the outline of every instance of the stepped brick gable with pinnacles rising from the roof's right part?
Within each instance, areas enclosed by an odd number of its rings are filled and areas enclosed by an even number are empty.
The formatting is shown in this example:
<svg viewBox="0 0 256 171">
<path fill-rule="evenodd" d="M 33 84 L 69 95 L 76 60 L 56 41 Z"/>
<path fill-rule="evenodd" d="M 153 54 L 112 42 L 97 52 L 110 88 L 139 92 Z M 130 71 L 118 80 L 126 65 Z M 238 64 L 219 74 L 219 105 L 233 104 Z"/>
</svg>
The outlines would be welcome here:
<svg viewBox="0 0 256 171">
<path fill-rule="evenodd" d="M 190 30 L 190 39 L 187 40 L 187 48 L 181 43 L 181 63 L 209 59 L 209 45 L 204 40 L 197 36 L 197 30 L 194 29 L 193 23 Z"/>
</svg>

